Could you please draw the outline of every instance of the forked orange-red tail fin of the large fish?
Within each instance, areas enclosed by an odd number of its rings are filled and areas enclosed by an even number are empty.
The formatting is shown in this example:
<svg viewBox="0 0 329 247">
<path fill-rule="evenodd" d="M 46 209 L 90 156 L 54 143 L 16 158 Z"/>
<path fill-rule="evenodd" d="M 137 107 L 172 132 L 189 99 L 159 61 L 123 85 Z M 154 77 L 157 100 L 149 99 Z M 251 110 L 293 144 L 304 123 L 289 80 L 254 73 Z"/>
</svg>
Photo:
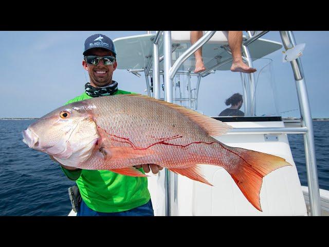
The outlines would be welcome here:
<svg viewBox="0 0 329 247">
<path fill-rule="evenodd" d="M 291 165 L 284 158 L 275 155 L 221 145 L 232 153 L 230 163 L 233 163 L 234 167 L 227 169 L 228 173 L 247 200 L 262 211 L 260 192 L 263 177 L 273 170 Z"/>
</svg>

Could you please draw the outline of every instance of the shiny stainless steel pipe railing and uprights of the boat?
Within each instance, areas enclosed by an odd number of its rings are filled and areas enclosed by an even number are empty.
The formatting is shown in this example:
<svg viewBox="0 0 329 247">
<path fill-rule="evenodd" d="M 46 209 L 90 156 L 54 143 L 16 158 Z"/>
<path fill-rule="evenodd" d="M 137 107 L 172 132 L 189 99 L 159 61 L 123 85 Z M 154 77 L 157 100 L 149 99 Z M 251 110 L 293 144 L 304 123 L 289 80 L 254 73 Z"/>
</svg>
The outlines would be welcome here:
<svg viewBox="0 0 329 247">
<path fill-rule="evenodd" d="M 243 42 L 244 46 L 248 46 L 253 41 L 259 39 L 268 31 L 251 32 L 249 31 L 249 39 Z M 193 46 L 191 46 L 184 54 L 182 54 L 175 62 L 174 66 L 171 66 L 171 31 L 164 31 L 163 35 L 163 48 L 164 48 L 164 68 L 163 74 L 165 79 L 165 93 L 166 100 L 173 102 L 172 91 L 172 79 L 178 70 L 178 67 L 193 53 L 205 44 L 215 33 L 215 31 L 208 31 L 202 38 L 200 38 Z M 157 35 L 159 35 L 157 33 Z M 280 31 L 280 36 L 284 44 L 285 49 L 293 48 L 296 45 L 294 34 L 292 31 Z M 156 48 L 156 47 L 155 47 Z M 158 56 L 158 55 L 157 55 Z M 158 58 L 157 58 L 158 61 Z M 290 62 L 293 68 L 293 73 L 296 81 L 296 89 L 299 100 L 299 108 L 301 113 L 301 127 L 297 128 L 238 128 L 230 131 L 234 133 L 287 133 L 287 134 L 303 134 L 304 146 L 305 146 L 305 158 L 307 168 L 307 182 L 309 190 L 310 210 L 312 216 L 321 215 L 320 206 L 320 192 L 319 182 L 317 174 L 317 165 L 315 157 L 314 146 L 314 134 L 313 134 L 313 122 L 310 114 L 309 100 L 307 95 L 307 88 L 304 79 L 303 69 L 300 58 Z M 153 69 L 155 73 L 156 68 Z M 201 75 L 202 76 L 202 75 Z M 175 184 L 177 182 L 177 175 L 172 174 L 166 170 L 166 215 L 175 215 L 177 210 L 177 198 L 175 198 L 177 188 Z"/>
</svg>

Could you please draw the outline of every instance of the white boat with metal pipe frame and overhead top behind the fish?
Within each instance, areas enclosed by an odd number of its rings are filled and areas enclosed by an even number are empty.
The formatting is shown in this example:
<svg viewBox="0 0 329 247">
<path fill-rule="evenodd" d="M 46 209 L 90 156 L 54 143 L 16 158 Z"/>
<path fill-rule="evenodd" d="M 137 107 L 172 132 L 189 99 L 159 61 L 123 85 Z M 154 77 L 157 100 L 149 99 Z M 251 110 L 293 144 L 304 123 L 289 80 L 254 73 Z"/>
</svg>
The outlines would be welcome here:
<svg viewBox="0 0 329 247">
<path fill-rule="evenodd" d="M 118 69 L 141 76 L 144 73 L 149 96 L 181 104 L 215 119 L 225 121 L 233 129 L 220 142 L 269 153 L 285 158 L 292 166 L 272 171 L 263 179 L 260 193 L 262 211 L 255 209 L 236 186 L 229 173 L 217 166 L 203 165 L 202 172 L 214 186 L 193 181 L 163 169 L 149 177 L 149 190 L 155 216 L 320 216 L 329 214 L 329 191 L 319 189 L 313 123 L 300 54 L 293 32 L 280 31 L 281 43 L 261 39 L 267 31 L 247 31 L 243 41 L 243 58 L 249 66 L 260 63 L 258 74 L 233 73 L 239 76 L 244 99 L 243 117 L 215 117 L 202 106 L 199 90 L 212 75 L 224 73 L 231 66 L 226 31 L 208 31 L 194 45 L 189 31 L 156 31 L 114 40 Z M 207 69 L 194 73 L 193 53 L 203 46 Z M 301 120 L 283 120 L 277 108 L 275 83 L 270 77 L 270 61 L 264 57 L 281 49 L 289 50 L 301 111 Z M 293 54 L 293 55 L 291 55 Z M 230 72 L 231 73 L 231 72 Z M 162 88 L 161 78 L 162 77 Z M 269 77 L 268 77 L 269 76 Z M 265 78 L 265 79 L 264 79 Z M 267 78 L 267 79 L 266 79 Z M 270 78 L 270 79 L 268 79 Z M 207 82 L 208 83 L 208 82 Z M 259 84 L 258 84 L 259 83 Z M 225 82 L 220 85 L 225 85 Z M 262 86 L 267 85 L 267 88 Z M 274 87 L 273 87 L 274 86 Z M 224 87 L 224 90 L 228 87 Z M 223 87 L 221 87 L 223 91 Z M 229 94 L 229 90 L 227 96 Z M 265 94 L 265 97 L 263 97 Z M 261 109 L 264 104 L 269 109 Z M 223 99 L 221 99 L 223 101 Z M 267 101 L 271 103 L 267 104 Z M 261 109 L 261 110 L 260 110 Z M 260 115 L 263 111 L 265 116 Z M 288 134 L 303 134 L 308 187 L 301 186 L 291 154 Z M 70 215 L 75 215 L 71 211 Z"/>
</svg>

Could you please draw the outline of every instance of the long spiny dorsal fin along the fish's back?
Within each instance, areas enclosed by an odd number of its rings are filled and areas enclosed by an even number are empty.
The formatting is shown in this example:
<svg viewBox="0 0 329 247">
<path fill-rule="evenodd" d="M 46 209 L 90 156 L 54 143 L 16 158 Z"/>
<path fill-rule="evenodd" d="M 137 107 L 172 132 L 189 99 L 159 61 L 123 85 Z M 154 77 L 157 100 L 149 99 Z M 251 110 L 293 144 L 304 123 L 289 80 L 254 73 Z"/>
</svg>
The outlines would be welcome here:
<svg viewBox="0 0 329 247">
<path fill-rule="evenodd" d="M 141 94 L 125 94 L 120 96 L 136 97 L 140 99 L 149 100 L 151 102 L 157 102 L 160 104 L 167 105 L 167 107 L 179 111 L 180 113 L 189 117 L 192 121 L 194 121 L 200 128 L 206 131 L 209 135 L 220 136 L 227 133 L 229 129 L 232 129 L 232 127 L 227 125 L 227 123 L 225 122 L 213 119 L 196 111 L 182 107 L 181 105 L 178 104 L 169 103 L 167 101 L 155 99 L 150 96 L 141 95 Z"/>
</svg>

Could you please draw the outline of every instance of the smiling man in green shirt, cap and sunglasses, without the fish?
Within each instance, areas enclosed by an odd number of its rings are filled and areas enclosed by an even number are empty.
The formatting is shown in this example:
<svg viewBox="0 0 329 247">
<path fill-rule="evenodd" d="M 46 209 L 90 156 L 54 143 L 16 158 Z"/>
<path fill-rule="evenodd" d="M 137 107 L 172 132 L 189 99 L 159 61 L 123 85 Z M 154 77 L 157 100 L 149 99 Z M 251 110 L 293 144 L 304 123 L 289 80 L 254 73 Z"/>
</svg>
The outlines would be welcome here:
<svg viewBox="0 0 329 247">
<path fill-rule="evenodd" d="M 84 43 L 82 66 L 89 74 L 85 91 L 66 104 L 93 97 L 132 94 L 118 89 L 112 80 L 117 67 L 113 41 L 94 34 Z M 131 177 L 108 170 L 85 170 L 61 165 L 65 175 L 76 181 L 82 200 L 77 216 L 154 216 L 147 177 Z M 154 164 L 135 166 L 140 171 L 158 173 L 163 168 Z"/>
</svg>

